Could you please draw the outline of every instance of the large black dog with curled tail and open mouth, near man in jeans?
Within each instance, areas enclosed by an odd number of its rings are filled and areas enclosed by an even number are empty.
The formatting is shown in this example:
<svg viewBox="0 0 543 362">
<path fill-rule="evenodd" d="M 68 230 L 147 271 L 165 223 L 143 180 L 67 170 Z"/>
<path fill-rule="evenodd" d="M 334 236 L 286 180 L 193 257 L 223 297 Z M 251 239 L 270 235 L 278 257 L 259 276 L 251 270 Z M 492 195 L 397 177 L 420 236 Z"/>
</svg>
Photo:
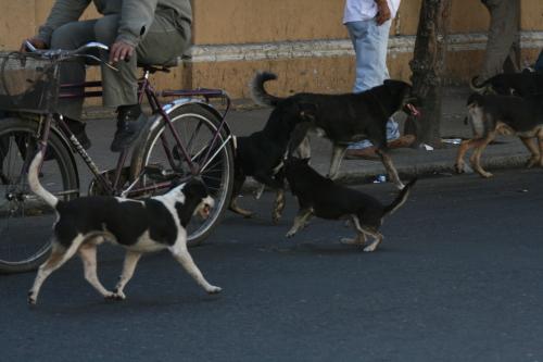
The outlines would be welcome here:
<svg viewBox="0 0 543 362">
<path fill-rule="evenodd" d="M 390 178 L 397 188 L 404 187 L 387 152 L 387 121 L 400 110 L 418 115 L 412 104 L 415 99 L 411 97 L 412 87 L 407 83 L 384 80 L 382 86 L 361 93 L 296 93 L 278 98 L 264 89 L 264 83 L 275 78 L 275 74 L 263 73 L 254 93 L 261 104 L 275 107 L 282 116 L 295 118 L 298 114 L 292 114 L 292 110 L 304 115 L 292 133 L 289 154 L 299 148 L 308 130 L 314 130 L 333 143 L 329 176 L 334 178 L 349 143 L 369 139 L 376 146 Z"/>
</svg>

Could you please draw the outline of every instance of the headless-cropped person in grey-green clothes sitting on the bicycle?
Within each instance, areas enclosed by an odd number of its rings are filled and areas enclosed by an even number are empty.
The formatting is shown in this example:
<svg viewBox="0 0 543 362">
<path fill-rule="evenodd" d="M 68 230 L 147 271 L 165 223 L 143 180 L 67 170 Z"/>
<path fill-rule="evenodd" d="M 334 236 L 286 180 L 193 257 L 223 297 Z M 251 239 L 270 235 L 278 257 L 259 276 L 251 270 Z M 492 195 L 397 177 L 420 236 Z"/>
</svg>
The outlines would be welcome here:
<svg viewBox="0 0 543 362">
<path fill-rule="evenodd" d="M 102 64 L 103 104 L 116 108 L 117 129 L 111 150 L 129 147 L 147 123 L 138 102 L 138 64 L 161 65 L 180 57 L 190 45 L 192 9 L 190 0 L 92 0 L 103 16 L 79 21 L 91 0 L 56 0 L 36 36 L 27 39 L 38 49 L 74 50 L 99 41 L 110 47 L 109 62 L 118 72 Z M 22 51 L 25 47 L 22 47 Z M 106 54 L 101 54 L 106 59 Z M 62 65 L 61 83 L 85 80 L 85 60 Z M 83 98 L 59 104 L 59 113 L 68 117 L 84 147 L 90 147 L 80 122 Z M 77 129 L 78 128 L 78 129 Z"/>
</svg>

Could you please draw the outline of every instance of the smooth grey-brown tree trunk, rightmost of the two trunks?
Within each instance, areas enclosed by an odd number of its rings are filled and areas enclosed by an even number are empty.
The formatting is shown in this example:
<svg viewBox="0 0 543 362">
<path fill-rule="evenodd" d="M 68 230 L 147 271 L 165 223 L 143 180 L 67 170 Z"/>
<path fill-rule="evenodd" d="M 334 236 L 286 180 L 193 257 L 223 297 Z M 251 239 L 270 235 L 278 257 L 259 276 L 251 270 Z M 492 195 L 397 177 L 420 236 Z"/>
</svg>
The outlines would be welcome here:
<svg viewBox="0 0 543 362">
<path fill-rule="evenodd" d="M 478 82 L 483 82 L 504 71 L 518 72 L 515 42 L 518 36 L 518 0 L 481 0 L 490 12 L 489 39 L 484 63 Z"/>
</svg>

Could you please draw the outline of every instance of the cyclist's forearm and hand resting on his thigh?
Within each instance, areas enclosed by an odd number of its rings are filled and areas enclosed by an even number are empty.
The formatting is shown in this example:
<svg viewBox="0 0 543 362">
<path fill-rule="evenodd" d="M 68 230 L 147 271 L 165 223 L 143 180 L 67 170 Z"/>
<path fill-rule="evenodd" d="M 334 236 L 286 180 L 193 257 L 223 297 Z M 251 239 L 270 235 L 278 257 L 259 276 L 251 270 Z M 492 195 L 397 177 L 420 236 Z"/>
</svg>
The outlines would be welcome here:
<svg viewBox="0 0 543 362">
<path fill-rule="evenodd" d="M 137 47 L 154 20 L 159 0 L 124 0 L 116 41 Z"/>
</svg>

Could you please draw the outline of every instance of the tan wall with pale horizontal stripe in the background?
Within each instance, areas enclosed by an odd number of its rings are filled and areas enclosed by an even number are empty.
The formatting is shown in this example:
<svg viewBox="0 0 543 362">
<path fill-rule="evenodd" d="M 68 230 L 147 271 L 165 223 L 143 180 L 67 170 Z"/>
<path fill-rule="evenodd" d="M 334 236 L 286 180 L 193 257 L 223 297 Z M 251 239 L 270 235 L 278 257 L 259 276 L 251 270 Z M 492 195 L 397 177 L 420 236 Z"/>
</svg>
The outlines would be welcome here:
<svg viewBox="0 0 543 362">
<path fill-rule="evenodd" d="M 0 0 L 0 50 L 15 49 L 47 17 L 53 0 Z M 256 70 L 279 75 L 272 90 L 348 91 L 354 77 L 354 53 L 341 24 L 344 1 L 193 0 L 192 61 L 173 74 L 159 75 L 161 86 L 217 87 L 235 98 L 248 97 Z M 421 0 L 404 0 L 392 25 L 389 67 L 408 80 Z M 521 0 L 522 62 L 543 48 L 543 1 Z M 90 9 L 85 17 L 97 16 Z M 454 0 L 447 80 L 466 82 L 478 73 L 489 15 L 479 0 Z M 97 72 L 90 72 L 97 77 Z"/>
</svg>

